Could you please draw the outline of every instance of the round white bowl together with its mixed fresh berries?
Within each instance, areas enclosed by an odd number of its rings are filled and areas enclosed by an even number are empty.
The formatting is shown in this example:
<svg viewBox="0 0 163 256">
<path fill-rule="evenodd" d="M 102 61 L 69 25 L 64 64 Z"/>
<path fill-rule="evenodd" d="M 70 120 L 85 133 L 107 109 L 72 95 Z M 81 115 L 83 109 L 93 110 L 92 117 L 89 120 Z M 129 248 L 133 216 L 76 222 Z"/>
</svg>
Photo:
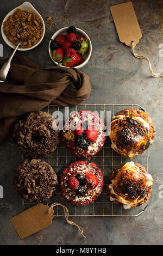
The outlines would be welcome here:
<svg viewBox="0 0 163 256">
<path fill-rule="evenodd" d="M 55 32 L 48 49 L 49 56 L 56 65 L 80 69 L 91 57 L 92 44 L 82 29 L 71 26 Z"/>
</svg>

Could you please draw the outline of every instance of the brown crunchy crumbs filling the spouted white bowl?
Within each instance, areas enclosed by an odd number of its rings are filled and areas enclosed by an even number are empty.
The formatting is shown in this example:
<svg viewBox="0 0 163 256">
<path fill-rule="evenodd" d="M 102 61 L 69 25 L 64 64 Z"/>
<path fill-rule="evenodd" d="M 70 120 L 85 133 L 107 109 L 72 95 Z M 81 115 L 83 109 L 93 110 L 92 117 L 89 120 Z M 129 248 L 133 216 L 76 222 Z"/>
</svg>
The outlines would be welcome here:
<svg viewBox="0 0 163 256">
<path fill-rule="evenodd" d="M 3 22 L 3 32 L 13 45 L 17 45 L 22 40 L 20 47 L 30 48 L 42 38 L 43 24 L 40 17 L 31 11 L 17 9 Z"/>
</svg>

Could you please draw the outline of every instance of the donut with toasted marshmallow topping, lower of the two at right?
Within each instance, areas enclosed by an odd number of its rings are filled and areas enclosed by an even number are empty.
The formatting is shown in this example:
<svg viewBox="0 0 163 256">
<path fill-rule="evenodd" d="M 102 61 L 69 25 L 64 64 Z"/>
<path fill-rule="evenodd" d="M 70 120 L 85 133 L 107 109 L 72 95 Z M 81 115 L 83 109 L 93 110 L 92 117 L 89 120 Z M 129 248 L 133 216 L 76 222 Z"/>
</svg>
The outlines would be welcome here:
<svg viewBox="0 0 163 256">
<path fill-rule="evenodd" d="M 123 205 L 124 209 L 136 208 L 151 196 L 153 179 L 140 163 L 127 162 L 118 166 L 111 173 L 110 181 L 106 192 L 111 201 Z"/>
</svg>

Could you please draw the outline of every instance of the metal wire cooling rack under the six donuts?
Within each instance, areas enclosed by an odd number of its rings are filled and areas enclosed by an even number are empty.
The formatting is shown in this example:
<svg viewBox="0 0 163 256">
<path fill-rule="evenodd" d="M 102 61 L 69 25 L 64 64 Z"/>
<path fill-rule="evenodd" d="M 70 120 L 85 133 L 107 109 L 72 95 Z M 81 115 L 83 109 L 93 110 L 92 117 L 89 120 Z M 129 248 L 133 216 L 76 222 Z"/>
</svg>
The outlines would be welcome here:
<svg viewBox="0 0 163 256">
<path fill-rule="evenodd" d="M 82 109 L 89 110 L 89 111 L 104 111 L 104 123 L 106 124 L 106 111 L 111 112 L 111 118 L 117 113 L 118 111 L 121 111 L 125 108 L 139 108 L 145 111 L 144 108 L 137 104 L 82 104 L 78 106 L 70 106 L 69 112 L 72 111 L 79 111 Z M 54 111 L 61 111 L 64 113 L 65 108 L 60 107 L 57 105 L 49 105 L 48 107 L 44 108 L 43 111 L 46 111 L 49 114 L 53 114 Z M 23 157 L 22 157 L 23 160 Z M 65 146 L 63 143 L 60 143 L 57 149 L 47 157 L 44 157 L 43 160 L 47 161 L 51 166 L 54 168 L 55 173 L 59 176 L 62 173 L 62 170 L 69 166 L 71 162 L 82 160 L 82 158 L 78 158 L 77 156 L 74 156 L 72 153 L 67 151 L 65 149 Z M 113 202 L 110 202 L 108 195 L 105 191 L 105 185 L 110 184 L 110 174 L 112 170 L 120 166 L 123 163 L 129 162 L 130 159 L 128 157 L 122 157 L 121 155 L 118 155 L 114 150 L 111 149 L 111 142 L 109 137 L 106 138 L 106 142 L 104 144 L 104 147 L 102 150 L 95 156 L 92 157 L 91 161 L 95 162 L 97 166 L 101 169 L 103 176 L 104 176 L 104 187 L 102 193 L 99 195 L 99 197 L 93 202 L 92 204 L 80 206 L 80 205 L 71 205 L 70 203 L 66 202 L 66 200 L 61 196 L 61 193 L 59 191 L 59 185 L 57 186 L 57 190 L 54 192 L 53 196 L 47 200 L 47 202 L 43 202 L 43 204 L 51 205 L 52 203 L 61 203 L 62 205 L 65 205 L 69 211 L 70 216 L 87 216 L 87 217 L 112 217 L 112 216 L 118 216 L 118 217 L 136 217 L 142 214 L 143 211 L 148 206 L 148 203 L 145 205 L 139 206 L 139 208 L 133 208 L 125 210 L 122 208 L 121 205 L 114 204 Z M 139 162 L 144 166 L 148 171 L 148 149 L 141 155 L 135 156 L 133 158 L 134 162 Z M 25 209 L 29 208 L 31 205 L 34 205 L 35 203 L 30 203 L 27 200 L 22 201 L 22 204 Z M 61 217 L 64 216 L 63 209 L 60 208 L 60 206 L 57 206 L 54 208 L 54 216 Z"/>
</svg>

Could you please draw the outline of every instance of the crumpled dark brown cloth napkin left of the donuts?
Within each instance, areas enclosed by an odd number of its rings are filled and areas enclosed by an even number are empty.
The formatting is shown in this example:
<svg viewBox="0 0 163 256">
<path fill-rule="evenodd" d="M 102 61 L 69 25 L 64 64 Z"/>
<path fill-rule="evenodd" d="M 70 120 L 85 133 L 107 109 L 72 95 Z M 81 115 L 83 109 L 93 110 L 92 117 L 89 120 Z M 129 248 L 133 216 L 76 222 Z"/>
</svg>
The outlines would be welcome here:
<svg viewBox="0 0 163 256">
<path fill-rule="evenodd" d="M 0 59 L 0 67 L 6 60 Z M 11 63 L 6 81 L 0 83 L 0 143 L 22 114 L 40 111 L 50 103 L 78 105 L 89 97 L 89 76 L 78 69 L 43 68 L 22 52 Z"/>
</svg>

